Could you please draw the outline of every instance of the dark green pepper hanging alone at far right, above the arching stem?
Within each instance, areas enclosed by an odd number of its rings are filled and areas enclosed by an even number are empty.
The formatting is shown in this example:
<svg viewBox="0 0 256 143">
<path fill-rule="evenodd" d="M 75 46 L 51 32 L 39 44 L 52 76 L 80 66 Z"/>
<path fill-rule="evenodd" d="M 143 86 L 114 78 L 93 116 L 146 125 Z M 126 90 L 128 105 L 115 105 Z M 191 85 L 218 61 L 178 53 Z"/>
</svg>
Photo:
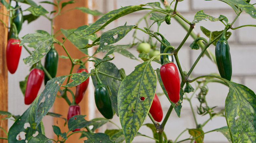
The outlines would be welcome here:
<svg viewBox="0 0 256 143">
<path fill-rule="evenodd" d="M 232 63 L 229 45 L 225 35 L 223 35 L 216 43 L 215 56 L 221 77 L 230 81 L 232 76 Z"/>
</svg>

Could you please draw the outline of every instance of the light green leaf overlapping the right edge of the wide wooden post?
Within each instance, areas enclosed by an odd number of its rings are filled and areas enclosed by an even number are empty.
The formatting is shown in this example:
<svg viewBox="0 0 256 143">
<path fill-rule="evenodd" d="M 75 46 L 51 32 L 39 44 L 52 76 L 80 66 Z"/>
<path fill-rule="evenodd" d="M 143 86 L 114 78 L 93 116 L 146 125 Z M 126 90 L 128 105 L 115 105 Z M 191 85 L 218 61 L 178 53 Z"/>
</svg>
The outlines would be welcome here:
<svg viewBox="0 0 256 143">
<path fill-rule="evenodd" d="M 78 37 L 79 35 L 77 35 L 76 33 L 72 33 L 75 29 L 62 29 L 61 28 L 61 32 L 62 34 L 67 38 L 68 40 L 75 45 L 75 47 L 77 47 L 78 50 L 80 50 L 81 52 L 83 52 L 84 54 L 88 55 L 88 50 L 87 49 L 80 49 L 81 47 L 84 47 L 88 44 L 89 40 L 85 39 L 85 38 L 80 38 L 77 39 L 76 37 Z"/>
</svg>

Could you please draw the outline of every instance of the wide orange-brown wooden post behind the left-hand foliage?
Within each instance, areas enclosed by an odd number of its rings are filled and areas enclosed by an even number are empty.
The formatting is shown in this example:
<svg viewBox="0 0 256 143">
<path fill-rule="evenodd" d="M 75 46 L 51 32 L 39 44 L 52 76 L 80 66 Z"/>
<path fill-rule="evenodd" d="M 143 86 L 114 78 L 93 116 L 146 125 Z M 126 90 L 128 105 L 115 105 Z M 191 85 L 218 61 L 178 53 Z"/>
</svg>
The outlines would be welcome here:
<svg viewBox="0 0 256 143">
<path fill-rule="evenodd" d="M 66 2 L 66 1 L 69 1 L 69 0 L 63 0 L 62 2 Z M 80 1 L 76 1 L 76 3 L 74 3 L 74 4 L 69 4 L 63 9 L 63 11 L 70 9 L 70 8 L 75 8 L 75 7 L 87 7 L 87 0 L 80 0 Z M 57 16 L 54 19 L 53 23 L 54 23 L 54 27 L 55 27 L 55 29 L 54 29 L 55 32 L 58 31 L 60 28 L 63 28 L 63 29 L 77 28 L 81 25 L 88 24 L 87 23 L 87 14 L 81 12 L 78 9 L 74 9 L 67 13 Z M 60 35 L 57 37 L 57 39 L 62 41 L 62 39 L 61 39 L 62 37 L 64 37 L 64 36 Z M 85 54 L 80 52 L 69 40 L 65 41 L 64 45 L 71 57 L 80 58 L 80 57 L 85 56 Z M 67 56 L 67 54 L 65 53 L 65 51 L 63 50 L 63 48 L 61 46 L 58 46 L 58 45 L 54 45 L 54 46 L 55 46 L 59 56 L 61 56 L 61 55 Z M 76 65 L 73 69 L 73 73 L 75 73 L 78 68 L 79 68 L 79 66 Z M 70 69 L 71 69 L 70 60 L 60 58 L 56 76 L 68 75 L 70 72 Z M 72 81 L 72 80 L 70 80 L 70 81 Z M 63 85 L 65 85 L 66 82 L 67 82 L 67 80 L 63 83 Z M 72 87 L 71 89 L 75 93 L 75 87 Z M 89 116 L 88 116 L 89 109 L 88 109 L 88 95 L 87 94 L 88 94 L 88 91 L 85 93 L 85 96 L 84 96 L 83 100 L 79 103 L 79 105 L 81 107 L 81 114 L 87 115 L 85 119 L 88 120 L 89 119 Z M 72 102 L 72 96 L 70 94 L 68 95 L 68 98 Z M 54 113 L 59 113 L 59 114 L 63 115 L 64 118 L 67 118 L 67 112 L 68 112 L 69 106 L 63 98 L 56 97 L 53 108 L 54 108 L 53 109 Z M 53 124 L 59 126 L 61 132 L 68 131 L 67 125 L 65 127 L 63 126 L 64 125 L 63 119 L 55 118 Z M 78 140 L 80 135 L 81 135 L 81 133 L 71 135 L 65 143 L 80 143 L 80 142 L 83 143 L 83 140 L 85 140 L 84 138 Z M 57 139 L 56 135 L 54 136 L 54 138 Z"/>
</svg>

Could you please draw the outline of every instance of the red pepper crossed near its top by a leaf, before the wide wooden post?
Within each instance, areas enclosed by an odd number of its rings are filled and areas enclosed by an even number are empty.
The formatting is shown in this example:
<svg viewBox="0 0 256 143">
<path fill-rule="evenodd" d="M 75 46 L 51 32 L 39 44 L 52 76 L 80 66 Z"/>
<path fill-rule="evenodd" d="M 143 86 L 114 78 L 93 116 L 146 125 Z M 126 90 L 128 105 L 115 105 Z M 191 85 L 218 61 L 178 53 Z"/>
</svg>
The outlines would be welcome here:
<svg viewBox="0 0 256 143">
<path fill-rule="evenodd" d="M 79 73 L 82 71 L 85 71 L 88 73 L 87 69 L 85 69 L 85 68 L 79 68 L 76 72 Z M 84 93 L 88 87 L 88 84 L 89 84 L 89 77 L 84 82 L 82 82 L 81 84 L 76 86 L 76 90 L 75 90 L 75 103 L 76 104 L 80 103 L 81 100 L 83 99 Z"/>
</svg>

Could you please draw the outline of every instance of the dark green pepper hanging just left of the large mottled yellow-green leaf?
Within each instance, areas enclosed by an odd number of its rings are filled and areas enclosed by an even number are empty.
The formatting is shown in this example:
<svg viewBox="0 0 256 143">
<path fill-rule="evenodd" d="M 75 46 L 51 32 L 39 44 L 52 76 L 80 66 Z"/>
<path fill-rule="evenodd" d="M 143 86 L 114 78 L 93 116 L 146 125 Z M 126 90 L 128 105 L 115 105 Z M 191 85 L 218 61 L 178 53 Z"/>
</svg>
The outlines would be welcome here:
<svg viewBox="0 0 256 143">
<path fill-rule="evenodd" d="M 111 106 L 111 100 L 108 88 L 103 84 L 95 87 L 94 98 L 99 112 L 106 118 L 112 119 L 114 112 Z"/>
</svg>

